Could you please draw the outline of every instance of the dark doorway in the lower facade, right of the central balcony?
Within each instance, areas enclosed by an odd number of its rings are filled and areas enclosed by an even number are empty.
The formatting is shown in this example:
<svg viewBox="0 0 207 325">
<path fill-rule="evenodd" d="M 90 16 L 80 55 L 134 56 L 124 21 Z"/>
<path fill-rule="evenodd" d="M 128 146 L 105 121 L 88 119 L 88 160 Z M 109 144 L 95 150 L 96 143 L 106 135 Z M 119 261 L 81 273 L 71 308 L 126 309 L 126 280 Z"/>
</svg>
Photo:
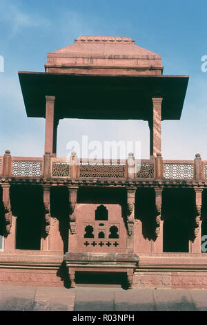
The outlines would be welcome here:
<svg viewBox="0 0 207 325">
<path fill-rule="evenodd" d="M 163 226 L 163 251 L 188 252 L 188 228 L 179 218 L 170 218 L 164 221 Z"/>
</svg>

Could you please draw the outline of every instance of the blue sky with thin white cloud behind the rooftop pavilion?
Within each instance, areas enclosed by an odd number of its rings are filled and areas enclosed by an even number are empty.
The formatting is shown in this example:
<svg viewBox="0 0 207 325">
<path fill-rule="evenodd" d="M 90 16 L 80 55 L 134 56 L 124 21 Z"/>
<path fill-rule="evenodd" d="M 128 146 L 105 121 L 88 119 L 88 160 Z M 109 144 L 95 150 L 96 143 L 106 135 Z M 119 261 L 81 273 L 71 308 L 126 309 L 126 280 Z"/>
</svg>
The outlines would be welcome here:
<svg viewBox="0 0 207 325">
<path fill-rule="evenodd" d="M 207 160 L 206 1 L 0 0 L 0 155 L 42 156 L 44 119 L 27 118 L 18 71 L 44 71 L 46 55 L 68 46 L 79 35 L 128 36 L 159 53 L 164 74 L 190 75 L 180 121 L 162 122 L 165 159 Z M 149 156 L 144 121 L 61 120 L 58 156 L 66 157 L 69 140 L 140 140 L 141 156 Z"/>
</svg>

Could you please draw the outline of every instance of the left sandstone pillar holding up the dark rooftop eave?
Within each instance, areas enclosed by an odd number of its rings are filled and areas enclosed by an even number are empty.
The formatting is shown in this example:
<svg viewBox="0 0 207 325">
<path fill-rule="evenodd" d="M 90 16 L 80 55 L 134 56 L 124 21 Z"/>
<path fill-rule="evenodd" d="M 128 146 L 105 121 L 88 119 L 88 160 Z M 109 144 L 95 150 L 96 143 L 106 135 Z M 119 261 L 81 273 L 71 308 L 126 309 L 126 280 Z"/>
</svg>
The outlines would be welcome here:
<svg viewBox="0 0 207 325">
<path fill-rule="evenodd" d="M 55 96 L 46 96 L 46 138 L 45 152 L 56 157 L 57 126 L 59 119 L 55 116 Z"/>
</svg>

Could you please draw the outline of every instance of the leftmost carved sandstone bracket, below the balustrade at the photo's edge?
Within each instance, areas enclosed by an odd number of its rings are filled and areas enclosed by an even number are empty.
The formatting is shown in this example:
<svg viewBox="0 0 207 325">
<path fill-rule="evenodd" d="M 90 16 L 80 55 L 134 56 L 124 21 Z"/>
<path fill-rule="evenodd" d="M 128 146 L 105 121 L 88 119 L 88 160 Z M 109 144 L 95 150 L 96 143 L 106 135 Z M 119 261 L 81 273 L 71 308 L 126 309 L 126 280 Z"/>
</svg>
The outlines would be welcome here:
<svg viewBox="0 0 207 325">
<path fill-rule="evenodd" d="M 10 234 L 10 230 L 12 227 L 12 211 L 11 211 L 11 203 L 10 203 L 10 184 L 2 184 L 3 190 L 3 210 L 4 210 L 4 218 L 6 223 L 6 236 Z"/>
</svg>

